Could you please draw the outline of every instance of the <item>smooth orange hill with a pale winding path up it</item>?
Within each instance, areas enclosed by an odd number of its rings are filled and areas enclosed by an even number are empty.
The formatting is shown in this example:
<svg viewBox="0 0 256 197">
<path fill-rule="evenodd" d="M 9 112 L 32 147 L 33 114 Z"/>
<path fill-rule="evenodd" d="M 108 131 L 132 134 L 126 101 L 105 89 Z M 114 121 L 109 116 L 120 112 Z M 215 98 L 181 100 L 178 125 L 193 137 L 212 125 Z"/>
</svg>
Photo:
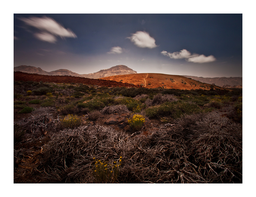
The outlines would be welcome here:
<svg viewBox="0 0 256 197">
<path fill-rule="evenodd" d="M 181 75 L 168 75 L 159 73 L 138 73 L 128 75 L 114 75 L 103 77 L 100 79 L 112 80 L 123 83 L 132 83 L 134 85 L 142 85 L 146 88 L 168 88 L 168 89 L 206 89 L 210 90 L 211 84 L 202 83 Z M 214 89 L 225 89 L 219 86 L 214 86 Z"/>
</svg>

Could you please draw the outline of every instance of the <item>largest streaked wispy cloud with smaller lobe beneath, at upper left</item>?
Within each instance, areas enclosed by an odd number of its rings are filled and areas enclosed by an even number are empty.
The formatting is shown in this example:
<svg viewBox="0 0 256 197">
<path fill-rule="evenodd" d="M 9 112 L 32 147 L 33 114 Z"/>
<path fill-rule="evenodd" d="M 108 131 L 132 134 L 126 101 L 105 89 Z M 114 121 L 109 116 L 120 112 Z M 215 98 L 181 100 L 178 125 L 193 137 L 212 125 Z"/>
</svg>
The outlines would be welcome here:
<svg viewBox="0 0 256 197">
<path fill-rule="evenodd" d="M 64 28 L 60 23 L 50 17 L 29 17 L 20 18 L 20 20 L 29 26 L 39 29 L 40 32 L 34 33 L 34 36 L 41 41 L 55 43 L 57 41 L 57 36 L 62 39 L 65 37 L 77 37 L 70 29 Z"/>
</svg>

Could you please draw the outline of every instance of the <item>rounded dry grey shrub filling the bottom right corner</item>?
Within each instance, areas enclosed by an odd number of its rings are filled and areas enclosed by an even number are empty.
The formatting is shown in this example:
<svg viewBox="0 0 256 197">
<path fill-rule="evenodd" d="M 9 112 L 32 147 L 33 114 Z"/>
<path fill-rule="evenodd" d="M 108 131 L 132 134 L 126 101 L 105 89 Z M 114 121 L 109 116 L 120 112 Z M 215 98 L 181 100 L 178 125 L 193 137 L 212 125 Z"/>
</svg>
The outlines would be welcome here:
<svg viewBox="0 0 256 197">
<path fill-rule="evenodd" d="M 190 117 L 190 120 L 191 117 Z M 188 125 L 182 123 L 183 131 Z M 209 183 L 242 182 L 242 126 L 214 113 L 196 117 L 185 129 L 187 155 Z M 200 167 L 199 167 L 200 166 Z"/>
</svg>

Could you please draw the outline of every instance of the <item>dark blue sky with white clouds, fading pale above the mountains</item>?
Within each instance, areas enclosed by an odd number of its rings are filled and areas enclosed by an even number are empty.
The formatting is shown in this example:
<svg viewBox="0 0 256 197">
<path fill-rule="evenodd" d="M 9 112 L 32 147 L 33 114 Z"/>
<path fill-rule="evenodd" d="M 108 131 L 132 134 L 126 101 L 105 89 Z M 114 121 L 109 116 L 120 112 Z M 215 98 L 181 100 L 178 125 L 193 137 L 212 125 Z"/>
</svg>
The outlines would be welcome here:
<svg viewBox="0 0 256 197">
<path fill-rule="evenodd" d="M 15 14 L 14 67 L 242 77 L 242 14 Z"/>
</svg>

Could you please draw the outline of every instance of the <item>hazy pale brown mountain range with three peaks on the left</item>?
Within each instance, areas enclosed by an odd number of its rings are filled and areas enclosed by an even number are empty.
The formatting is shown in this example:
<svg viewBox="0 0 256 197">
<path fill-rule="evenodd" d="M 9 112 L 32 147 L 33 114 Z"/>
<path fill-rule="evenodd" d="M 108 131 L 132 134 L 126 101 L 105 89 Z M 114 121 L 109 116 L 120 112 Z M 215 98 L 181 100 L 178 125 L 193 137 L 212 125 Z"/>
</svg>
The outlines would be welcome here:
<svg viewBox="0 0 256 197">
<path fill-rule="evenodd" d="M 32 74 L 40 74 L 40 75 L 68 75 L 68 76 L 76 76 L 76 77 L 86 77 L 86 78 L 102 78 L 102 77 L 108 77 L 112 75 L 124 75 L 124 74 L 135 74 L 137 73 L 136 71 L 128 68 L 125 65 L 117 65 L 113 66 L 109 69 L 104 69 L 100 70 L 95 73 L 90 73 L 90 74 L 78 74 L 75 72 L 72 72 L 67 69 L 59 69 L 51 72 L 46 72 L 42 70 L 41 68 L 36 68 L 34 66 L 26 66 L 26 65 L 21 65 L 18 67 L 14 67 L 14 71 L 20 71 L 20 72 L 25 72 L 25 73 L 32 73 Z"/>
</svg>

